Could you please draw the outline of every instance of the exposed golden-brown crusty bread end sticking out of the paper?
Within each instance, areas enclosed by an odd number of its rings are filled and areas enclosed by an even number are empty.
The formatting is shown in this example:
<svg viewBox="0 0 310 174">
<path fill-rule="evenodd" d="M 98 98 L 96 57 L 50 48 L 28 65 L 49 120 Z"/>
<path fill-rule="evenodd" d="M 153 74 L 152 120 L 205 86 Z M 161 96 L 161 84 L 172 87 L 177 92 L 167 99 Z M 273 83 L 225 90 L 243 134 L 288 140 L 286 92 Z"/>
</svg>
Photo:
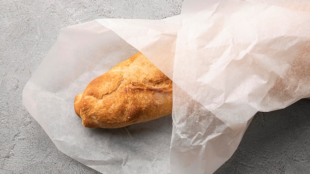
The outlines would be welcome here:
<svg viewBox="0 0 310 174">
<path fill-rule="evenodd" d="M 172 81 L 141 52 L 94 79 L 74 99 L 88 128 L 121 128 L 172 112 Z"/>
</svg>

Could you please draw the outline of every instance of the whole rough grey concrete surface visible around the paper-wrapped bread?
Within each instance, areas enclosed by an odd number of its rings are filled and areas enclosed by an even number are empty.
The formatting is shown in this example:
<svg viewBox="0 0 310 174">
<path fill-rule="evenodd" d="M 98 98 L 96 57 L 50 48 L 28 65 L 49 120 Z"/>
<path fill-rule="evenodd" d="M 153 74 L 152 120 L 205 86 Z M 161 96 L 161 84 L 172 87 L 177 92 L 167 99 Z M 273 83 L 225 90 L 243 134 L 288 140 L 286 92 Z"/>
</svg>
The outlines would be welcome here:
<svg viewBox="0 0 310 174">
<path fill-rule="evenodd" d="M 162 19 L 182 0 L 0 0 L 0 174 L 99 174 L 61 153 L 22 105 L 22 90 L 66 26 Z M 216 174 L 309 174 L 310 100 L 258 113 Z"/>
</svg>

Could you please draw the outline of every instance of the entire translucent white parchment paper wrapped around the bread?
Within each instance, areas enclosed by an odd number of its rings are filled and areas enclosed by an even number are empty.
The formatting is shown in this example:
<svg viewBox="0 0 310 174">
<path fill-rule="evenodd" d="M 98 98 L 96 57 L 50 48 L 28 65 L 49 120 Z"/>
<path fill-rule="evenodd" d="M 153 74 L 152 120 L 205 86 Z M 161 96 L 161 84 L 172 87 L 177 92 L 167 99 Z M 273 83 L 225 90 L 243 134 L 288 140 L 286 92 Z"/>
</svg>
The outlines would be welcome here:
<svg viewBox="0 0 310 174">
<path fill-rule="evenodd" d="M 60 151 L 103 174 L 213 173 L 256 112 L 310 97 L 308 21 L 309 12 L 263 3 L 184 0 L 181 14 L 164 20 L 70 26 L 27 83 L 23 104 Z M 138 51 L 173 80 L 172 117 L 84 128 L 75 95 Z"/>
</svg>

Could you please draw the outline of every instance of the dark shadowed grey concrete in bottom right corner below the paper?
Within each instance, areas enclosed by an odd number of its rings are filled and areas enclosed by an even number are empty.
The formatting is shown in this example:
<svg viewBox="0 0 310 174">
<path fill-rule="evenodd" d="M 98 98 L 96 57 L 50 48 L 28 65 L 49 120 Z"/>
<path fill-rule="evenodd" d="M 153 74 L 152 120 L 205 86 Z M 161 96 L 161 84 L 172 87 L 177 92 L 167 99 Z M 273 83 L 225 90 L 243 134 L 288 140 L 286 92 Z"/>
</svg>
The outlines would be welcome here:
<svg viewBox="0 0 310 174">
<path fill-rule="evenodd" d="M 257 113 L 216 174 L 310 174 L 310 100 Z"/>
</svg>

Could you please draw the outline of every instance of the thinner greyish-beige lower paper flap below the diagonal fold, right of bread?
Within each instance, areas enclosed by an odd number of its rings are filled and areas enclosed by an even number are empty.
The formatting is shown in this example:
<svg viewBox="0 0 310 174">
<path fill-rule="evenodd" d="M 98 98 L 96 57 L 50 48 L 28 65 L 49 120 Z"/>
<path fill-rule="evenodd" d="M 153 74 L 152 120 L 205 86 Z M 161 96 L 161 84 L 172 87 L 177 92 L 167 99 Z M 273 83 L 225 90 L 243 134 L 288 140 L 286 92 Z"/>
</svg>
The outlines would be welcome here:
<svg viewBox="0 0 310 174">
<path fill-rule="evenodd" d="M 236 150 L 248 123 L 232 130 L 178 86 L 173 91 L 171 173 L 214 172 Z"/>
</svg>

